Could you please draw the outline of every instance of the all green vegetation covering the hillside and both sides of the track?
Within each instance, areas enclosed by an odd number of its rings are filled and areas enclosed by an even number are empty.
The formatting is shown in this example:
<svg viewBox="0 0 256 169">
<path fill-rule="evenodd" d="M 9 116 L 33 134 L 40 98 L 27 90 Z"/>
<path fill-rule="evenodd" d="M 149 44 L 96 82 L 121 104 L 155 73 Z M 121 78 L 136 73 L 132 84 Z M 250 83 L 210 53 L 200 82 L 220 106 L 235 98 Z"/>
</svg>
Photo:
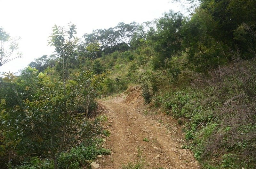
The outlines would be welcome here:
<svg viewBox="0 0 256 169">
<path fill-rule="evenodd" d="M 140 85 L 145 104 L 182 125 L 183 148 L 203 168 L 256 168 L 255 6 L 199 0 L 188 17 L 169 11 L 81 40 L 75 25 L 54 26 L 54 55 L 0 79 L 0 165 L 86 167 L 108 154 L 94 98 Z M 142 165 L 140 155 L 123 168 Z"/>
</svg>

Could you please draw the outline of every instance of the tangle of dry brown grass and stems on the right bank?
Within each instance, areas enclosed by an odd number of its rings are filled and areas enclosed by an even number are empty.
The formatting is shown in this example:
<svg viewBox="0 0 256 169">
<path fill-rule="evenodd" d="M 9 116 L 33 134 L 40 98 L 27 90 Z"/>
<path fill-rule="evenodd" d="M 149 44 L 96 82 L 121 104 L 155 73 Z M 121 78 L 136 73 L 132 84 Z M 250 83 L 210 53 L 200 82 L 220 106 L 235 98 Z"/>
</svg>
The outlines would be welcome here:
<svg viewBox="0 0 256 169">
<path fill-rule="evenodd" d="M 202 157 L 224 153 L 236 154 L 245 164 L 256 164 L 256 66 L 252 61 L 239 61 L 209 75 L 195 75 L 192 85 L 204 92 L 202 105 L 214 110 L 218 123 L 205 143 Z M 215 157 L 216 158 L 216 157 Z"/>
</svg>

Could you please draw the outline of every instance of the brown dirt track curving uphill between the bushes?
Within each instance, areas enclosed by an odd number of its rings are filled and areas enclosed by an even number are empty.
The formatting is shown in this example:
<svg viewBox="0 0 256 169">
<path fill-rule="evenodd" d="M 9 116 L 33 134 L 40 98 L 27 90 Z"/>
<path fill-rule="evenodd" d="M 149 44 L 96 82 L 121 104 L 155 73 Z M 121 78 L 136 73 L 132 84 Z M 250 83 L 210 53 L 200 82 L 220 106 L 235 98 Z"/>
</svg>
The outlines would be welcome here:
<svg viewBox="0 0 256 169">
<path fill-rule="evenodd" d="M 193 153 L 180 148 L 170 132 L 137 109 L 119 99 L 100 100 L 108 110 L 108 130 L 111 136 L 105 143 L 112 154 L 99 159 L 100 169 L 119 169 L 122 164 L 138 159 L 138 147 L 142 150 L 145 169 L 199 168 Z M 148 142 L 143 141 L 148 138 Z"/>
</svg>

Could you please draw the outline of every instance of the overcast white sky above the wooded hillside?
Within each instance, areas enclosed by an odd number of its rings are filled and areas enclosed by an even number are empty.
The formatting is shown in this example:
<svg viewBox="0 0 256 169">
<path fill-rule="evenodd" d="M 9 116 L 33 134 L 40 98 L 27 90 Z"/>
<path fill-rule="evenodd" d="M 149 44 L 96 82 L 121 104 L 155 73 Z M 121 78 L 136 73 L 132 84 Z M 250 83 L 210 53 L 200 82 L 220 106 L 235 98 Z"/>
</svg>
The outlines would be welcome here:
<svg viewBox="0 0 256 169">
<path fill-rule="evenodd" d="M 51 55 L 47 46 L 52 26 L 72 22 L 77 37 L 93 29 L 109 28 L 119 22 L 152 21 L 172 9 L 180 11 L 171 0 L 0 0 L 0 27 L 12 37 L 20 37 L 22 58 L 0 67 L 0 72 L 18 72 L 34 58 Z"/>
</svg>

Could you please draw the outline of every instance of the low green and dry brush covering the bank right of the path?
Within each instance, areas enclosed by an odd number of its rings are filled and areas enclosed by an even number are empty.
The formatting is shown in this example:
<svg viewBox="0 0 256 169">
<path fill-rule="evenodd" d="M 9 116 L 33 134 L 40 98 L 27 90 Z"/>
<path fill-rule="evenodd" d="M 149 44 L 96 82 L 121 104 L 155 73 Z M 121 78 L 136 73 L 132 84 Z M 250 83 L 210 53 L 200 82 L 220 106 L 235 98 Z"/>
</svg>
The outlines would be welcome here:
<svg viewBox="0 0 256 169">
<path fill-rule="evenodd" d="M 187 148 L 206 168 L 208 159 L 216 158 L 214 163 L 221 167 L 255 167 L 255 62 L 198 74 L 191 87 L 162 91 L 152 99 L 153 106 L 187 121 Z"/>
</svg>

